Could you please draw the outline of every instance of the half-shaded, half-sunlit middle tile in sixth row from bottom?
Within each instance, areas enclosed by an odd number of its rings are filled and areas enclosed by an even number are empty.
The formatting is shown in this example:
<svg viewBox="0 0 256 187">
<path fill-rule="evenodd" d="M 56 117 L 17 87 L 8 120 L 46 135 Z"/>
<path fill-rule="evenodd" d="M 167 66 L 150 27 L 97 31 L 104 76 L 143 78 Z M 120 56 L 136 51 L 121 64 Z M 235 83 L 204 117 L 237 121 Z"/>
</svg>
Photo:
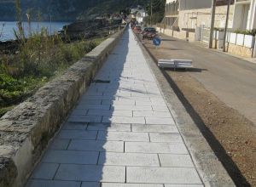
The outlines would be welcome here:
<svg viewBox="0 0 256 187">
<path fill-rule="evenodd" d="M 99 131 L 124 131 L 131 132 L 131 124 L 120 123 L 90 123 L 87 130 Z"/>
</svg>

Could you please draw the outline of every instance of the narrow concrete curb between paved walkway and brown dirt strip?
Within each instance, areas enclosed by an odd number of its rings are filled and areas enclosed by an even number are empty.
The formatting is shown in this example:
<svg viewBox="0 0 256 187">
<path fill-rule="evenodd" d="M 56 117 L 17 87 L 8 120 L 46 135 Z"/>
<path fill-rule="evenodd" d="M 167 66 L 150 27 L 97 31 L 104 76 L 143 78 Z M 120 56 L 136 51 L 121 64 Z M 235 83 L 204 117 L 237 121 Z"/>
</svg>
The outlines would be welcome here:
<svg viewBox="0 0 256 187">
<path fill-rule="evenodd" d="M 159 84 L 163 97 L 166 99 L 166 105 L 169 107 L 174 117 L 179 132 L 183 137 L 183 141 L 201 176 L 202 182 L 205 186 L 236 186 L 207 143 L 200 129 L 189 116 L 188 111 L 186 111 L 181 101 L 177 98 L 177 94 L 172 89 L 172 85 L 170 86 L 163 72 L 160 71 L 159 67 L 155 64 L 156 60 L 154 57 L 141 42 L 139 42 L 139 45 L 147 59 L 148 66 Z"/>
</svg>

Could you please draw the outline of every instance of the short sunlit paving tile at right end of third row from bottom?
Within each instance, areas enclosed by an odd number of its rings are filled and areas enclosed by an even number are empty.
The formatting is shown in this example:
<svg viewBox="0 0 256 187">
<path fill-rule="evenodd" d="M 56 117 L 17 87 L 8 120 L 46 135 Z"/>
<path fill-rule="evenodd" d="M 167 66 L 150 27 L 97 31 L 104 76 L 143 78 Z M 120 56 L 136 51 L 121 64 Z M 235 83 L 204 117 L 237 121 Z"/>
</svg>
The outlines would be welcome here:
<svg viewBox="0 0 256 187">
<path fill-rule="evenodd" d="M 162 167 L 195 167 L 189 155 L 159 154 Z"/>
</svg>

